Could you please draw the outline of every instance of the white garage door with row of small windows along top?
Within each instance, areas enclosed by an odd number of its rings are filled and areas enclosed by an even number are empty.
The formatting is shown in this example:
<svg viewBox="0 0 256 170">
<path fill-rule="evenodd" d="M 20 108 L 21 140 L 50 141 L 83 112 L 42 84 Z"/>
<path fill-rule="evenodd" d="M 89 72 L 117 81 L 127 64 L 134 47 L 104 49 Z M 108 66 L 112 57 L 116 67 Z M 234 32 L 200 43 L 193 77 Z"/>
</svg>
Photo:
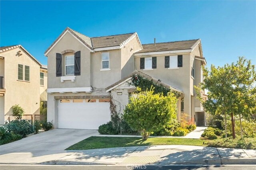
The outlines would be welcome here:
<svg viewBox="0 0 256 170">
<path fill-rule="evenodd" d="M 110 99 L 60 99 L 58 128 L 98 129 L 110 121 Z"/>
</svg>

